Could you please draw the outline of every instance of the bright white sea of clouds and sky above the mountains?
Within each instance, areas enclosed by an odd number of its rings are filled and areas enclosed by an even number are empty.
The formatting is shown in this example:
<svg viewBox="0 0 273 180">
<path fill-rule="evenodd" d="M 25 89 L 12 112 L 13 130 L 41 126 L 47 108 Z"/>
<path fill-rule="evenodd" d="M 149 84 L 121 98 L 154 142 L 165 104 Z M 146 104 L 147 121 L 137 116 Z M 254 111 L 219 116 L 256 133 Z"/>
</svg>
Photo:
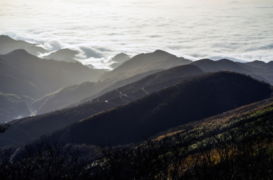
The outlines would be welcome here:
<svg viewBox="0 0 273 180">
<path fill-rule="evenodd" d="M 273 0 L 1 0 L 0 34 L 83 64 L 168 51 L 191 60 L 273 60 Z M 40 54 L 42 57 L 46 54 Z"/>
</svg>

